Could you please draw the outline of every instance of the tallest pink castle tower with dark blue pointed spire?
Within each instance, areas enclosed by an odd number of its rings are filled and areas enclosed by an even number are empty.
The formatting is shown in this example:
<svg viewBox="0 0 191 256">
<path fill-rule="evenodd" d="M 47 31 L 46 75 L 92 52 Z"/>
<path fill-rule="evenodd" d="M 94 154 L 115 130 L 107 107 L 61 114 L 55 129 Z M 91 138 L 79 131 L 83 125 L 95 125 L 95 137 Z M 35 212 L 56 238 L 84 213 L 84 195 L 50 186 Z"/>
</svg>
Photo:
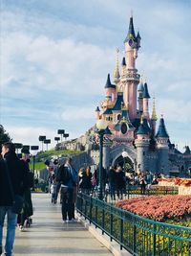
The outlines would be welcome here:
<svg viewBox="0 0 191 256">
<path fill-rule="evenodd" d="M 134 120 L 137 116 L 137 86 L 139 82 L 138 70 L 136 69 L 136 58 L 138 58 L 138 48 L 140 47 L 140 35 L 135 34 L 133 16 L 130 17 L 128 35 L 124 40 L 125 59 L 127 74 L 123 82 L 124 104 L 129 104 L 129 116 Z"/>
</svg>

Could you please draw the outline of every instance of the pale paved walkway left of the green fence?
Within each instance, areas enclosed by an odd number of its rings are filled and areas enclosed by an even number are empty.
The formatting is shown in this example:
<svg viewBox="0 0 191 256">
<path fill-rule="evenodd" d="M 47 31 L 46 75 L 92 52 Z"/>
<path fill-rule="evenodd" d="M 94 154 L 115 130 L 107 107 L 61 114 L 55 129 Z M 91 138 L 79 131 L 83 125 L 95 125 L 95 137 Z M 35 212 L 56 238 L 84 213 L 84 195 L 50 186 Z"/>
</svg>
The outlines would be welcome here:
<svg viewBox="0 0 191 256">
<path fill-rule="evenodd" d="M 60 204 L 50 194 L 32 195 L 32 227 L 16 231 L 14 256 L 113 255 L 80 223 L 62 223 Z"/>
</svg>

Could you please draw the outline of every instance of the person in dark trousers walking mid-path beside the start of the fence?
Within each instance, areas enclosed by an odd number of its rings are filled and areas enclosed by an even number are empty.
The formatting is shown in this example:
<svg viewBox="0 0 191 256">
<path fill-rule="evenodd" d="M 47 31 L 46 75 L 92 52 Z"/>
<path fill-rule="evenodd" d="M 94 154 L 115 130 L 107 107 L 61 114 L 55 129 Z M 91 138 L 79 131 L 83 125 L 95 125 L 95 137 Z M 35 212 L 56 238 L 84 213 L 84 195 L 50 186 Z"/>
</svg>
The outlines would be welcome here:
<svg viewBox="0 0 191 256">
<path fill-rule="evenodd" d="M 72 222 L 74 219 L 74 187 L 76 186 L 77 174 L 71 157 L 67 159 L 65 165 L 60 166 L 57 180 L 61 182 L 62 220 L 64 223 L 66 221 Z"/>
</svg>

